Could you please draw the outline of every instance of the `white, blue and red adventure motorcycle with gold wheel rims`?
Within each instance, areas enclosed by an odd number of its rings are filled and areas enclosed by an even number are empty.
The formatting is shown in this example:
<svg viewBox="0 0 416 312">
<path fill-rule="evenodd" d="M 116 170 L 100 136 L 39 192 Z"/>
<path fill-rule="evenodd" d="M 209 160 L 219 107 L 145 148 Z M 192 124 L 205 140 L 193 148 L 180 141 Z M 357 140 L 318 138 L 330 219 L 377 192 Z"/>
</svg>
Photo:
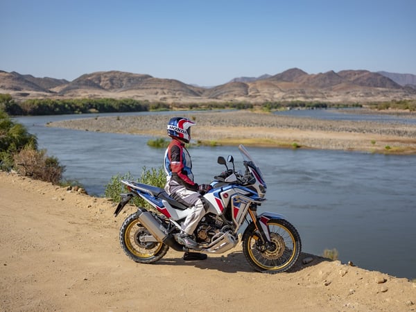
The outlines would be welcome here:
<svg viewBox="0 0 416 312">
<path fill-rule="evenodd" d="M 218 164 L 224 165 L 225 171 L 216 175 L 210 183 L 212 189 L 202 194 L 209 207 L 193 233 L 198 243 L 196 250 L 189 250 L 176 240 L 180 224 L 189 213 L 186 206 L 168 196 L 164 189 L 122 180 L 129 193 L 121 194 L 114 217 L 136 196 L 154 208 L 137 207 L 137 211 L 124 220 L 119 239 L 125 254 L 138 263 L 158 261 L 169 248 L 221 254 L 237 245 L 239 229 L 247 223 L 241 241 L 250 266 L 258 272 L 272 274 L 292 268 L 302 248 L 300 235 L 281 214 L 263 212 L 257 215 L 257 207 L 266 200 L 266 182 L 248 150 L 240 145 L 239 151 L 243 156 L 244 173 L 235 170 L 231 155 L 227 162 L 232 168 L 227 166 L 224 157 L 218 157 Z"/>
</svg>

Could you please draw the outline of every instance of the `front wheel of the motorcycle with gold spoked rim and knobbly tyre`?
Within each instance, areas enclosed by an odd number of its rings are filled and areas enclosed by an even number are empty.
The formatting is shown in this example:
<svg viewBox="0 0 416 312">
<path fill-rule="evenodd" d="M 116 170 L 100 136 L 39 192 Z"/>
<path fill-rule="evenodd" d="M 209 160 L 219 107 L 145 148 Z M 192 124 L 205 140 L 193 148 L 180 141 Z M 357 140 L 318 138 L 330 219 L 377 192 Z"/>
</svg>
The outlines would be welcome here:
<svg viewBox="0 0 416 312">
<path fill-rule="evenodd" d="M 299 258 L 302 243 L 300 235 L 291 223 L 284 219 L 268 221 L 270 242 L 263 243 L 254 223 L 243 234 L 243 254 L 250 266 L 263 273 L 285 272 L 292 268 Z"/>
</svg>

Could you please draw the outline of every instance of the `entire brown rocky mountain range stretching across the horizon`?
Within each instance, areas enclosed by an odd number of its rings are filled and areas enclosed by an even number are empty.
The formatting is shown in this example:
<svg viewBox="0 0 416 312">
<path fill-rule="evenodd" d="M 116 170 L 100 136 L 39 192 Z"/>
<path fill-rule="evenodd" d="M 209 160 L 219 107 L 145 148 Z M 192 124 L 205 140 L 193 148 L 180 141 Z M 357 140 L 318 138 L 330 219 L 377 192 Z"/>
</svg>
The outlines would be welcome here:
<svg viewBox="0 0 416 312">
<path fill-rule="evenodd" d="M 72 81 L 0 71 L 0 93 L 14 98 L 135 98 L 148 101 L 325 101 L 365 103 L 416 98 L 416 76 L 365 70 L 309 74 L 293 68 L 273 76 L 234 78 L 204 88 L 124 71 L 87 73 Z M 414 77 L 413 77 L 414 76 Z M 415 83 L 415 84 L 413 84 Z"/>
</svg>

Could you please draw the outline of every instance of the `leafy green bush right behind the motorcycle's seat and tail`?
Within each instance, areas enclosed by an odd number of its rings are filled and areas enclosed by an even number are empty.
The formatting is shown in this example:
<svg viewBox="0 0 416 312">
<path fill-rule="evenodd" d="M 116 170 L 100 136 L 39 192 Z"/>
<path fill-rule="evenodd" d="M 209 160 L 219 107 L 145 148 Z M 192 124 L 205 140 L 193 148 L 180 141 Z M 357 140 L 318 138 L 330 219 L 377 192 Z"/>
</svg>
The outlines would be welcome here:
<svg viewBox="0 0 416 312">
<path fill-rule="evenodd" d="M 105 197 L 112 198 L 114 202 L 119 202 L 121 200 L 120 194 L 128 192 L 128 189 L 125 187 L 125 184 L 121 183 L 121 180 L 130 180 L 163 188 L 166 183 L 166 173 L 162 166 L 150 169 L 147 169 L 146 166 L 144 166 L 141 176 L 136 180 L 130 172 L 123 175 L 113 175 L 110 182 L 105 185 Z M 151 207 L 145 200 L 139 197 L 135 197 L 133 203 L 139 207 Z"/>
</svg>

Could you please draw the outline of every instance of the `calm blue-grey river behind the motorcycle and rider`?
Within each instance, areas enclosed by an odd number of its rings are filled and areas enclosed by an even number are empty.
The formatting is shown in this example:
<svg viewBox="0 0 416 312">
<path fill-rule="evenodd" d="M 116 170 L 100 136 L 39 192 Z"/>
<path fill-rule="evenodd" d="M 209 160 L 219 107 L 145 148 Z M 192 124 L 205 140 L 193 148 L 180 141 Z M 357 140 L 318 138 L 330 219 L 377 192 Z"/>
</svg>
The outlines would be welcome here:
<svg viewBox="0 0 416 312">
<path fill-rule="evenodd" d="M 66 166 L 64 178 L 77 180 L 89 194 L 102 196 L 112 175 L 130 172 L 139 177 L 144 166 L 162 166 L 164 150 L 147 146 L 150 137 L 45 126 L 49 121 L 92 116 L 22 116 L 17 121 L 37 135 L 39 148 Z M 300 232 L 304 252 L 322 254 L 336 248 L 343 263 L 353 261 L 368 270 L 416 278 L 414 155 L 248 150 L 268 183 L 268 201 L 259 212 L 284 214 Z M 236 166 L 241 164 L 234 146 L 194 147 L 190 153 L 198 183 L 223 171 L 216 164 L 219 155 L 232 154 Z"/>
</svg>

